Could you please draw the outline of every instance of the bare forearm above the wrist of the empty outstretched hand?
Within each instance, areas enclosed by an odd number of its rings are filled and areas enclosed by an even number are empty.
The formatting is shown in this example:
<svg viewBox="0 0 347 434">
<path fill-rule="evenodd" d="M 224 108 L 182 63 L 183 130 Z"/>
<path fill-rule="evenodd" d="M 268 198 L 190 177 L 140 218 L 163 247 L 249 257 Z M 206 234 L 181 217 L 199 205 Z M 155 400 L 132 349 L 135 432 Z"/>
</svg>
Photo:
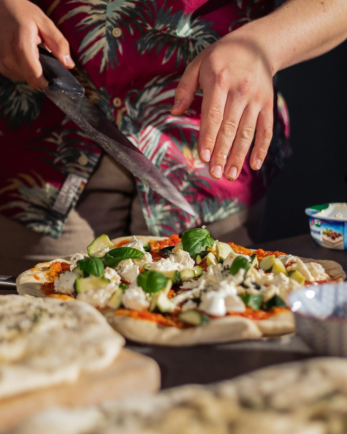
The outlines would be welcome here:
<svg viewBox="0 0 347 434">
<path fill-rule="evenodd" d="M 347 38 L 346 0 L 287 0 L 233 33 L 264 54 L 272 74 L 326 53 Z"/>
</svg>

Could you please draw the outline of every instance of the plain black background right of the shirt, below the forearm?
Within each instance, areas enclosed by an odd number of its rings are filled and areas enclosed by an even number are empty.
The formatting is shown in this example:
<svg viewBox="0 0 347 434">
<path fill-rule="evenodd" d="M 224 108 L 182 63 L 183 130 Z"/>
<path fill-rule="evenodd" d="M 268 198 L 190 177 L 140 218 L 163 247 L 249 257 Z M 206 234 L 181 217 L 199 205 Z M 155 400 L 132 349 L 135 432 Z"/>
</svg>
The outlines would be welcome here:
<svg viewBox="0 0 347 434">
<path fill-rule="evenodd" d="M 278 72 L 292 155 L 268 190 L 261 241 L 309 233 L 305 208 L 347 202 L 347 41 Z"/>
</svg>

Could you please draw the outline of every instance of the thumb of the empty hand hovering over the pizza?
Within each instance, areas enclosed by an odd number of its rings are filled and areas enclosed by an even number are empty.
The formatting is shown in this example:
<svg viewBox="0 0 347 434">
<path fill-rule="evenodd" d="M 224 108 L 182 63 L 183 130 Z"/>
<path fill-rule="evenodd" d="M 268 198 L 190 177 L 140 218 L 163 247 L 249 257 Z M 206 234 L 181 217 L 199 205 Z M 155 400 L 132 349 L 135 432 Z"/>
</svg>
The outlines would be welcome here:
<svg viewBox="0 0 347 434">
<path fill-rule="evenodd" d="M 182 115 L 187 112 L 193 102 L 199 87 L 200 63 L 190 63 L 178 82 L 175 90 L 175 102 L 171 109 L 173 115 Z"/>
</svg>

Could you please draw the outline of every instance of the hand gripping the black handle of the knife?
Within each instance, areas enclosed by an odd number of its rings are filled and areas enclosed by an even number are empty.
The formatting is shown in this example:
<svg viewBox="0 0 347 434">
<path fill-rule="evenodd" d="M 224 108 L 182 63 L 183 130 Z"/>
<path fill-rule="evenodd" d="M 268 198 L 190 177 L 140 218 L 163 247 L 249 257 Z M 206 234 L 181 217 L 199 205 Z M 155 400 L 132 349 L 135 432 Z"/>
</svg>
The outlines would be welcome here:
<svg viewBox="0 0 347 434">
<path fill-rule="evenodd" d="M 39 7 L 28 0 L 0 0 L 0 73 L 46 86 L 37 46 L 43 44 L 68 68 L 73 68 L 69 43 Z"/>
</svg>

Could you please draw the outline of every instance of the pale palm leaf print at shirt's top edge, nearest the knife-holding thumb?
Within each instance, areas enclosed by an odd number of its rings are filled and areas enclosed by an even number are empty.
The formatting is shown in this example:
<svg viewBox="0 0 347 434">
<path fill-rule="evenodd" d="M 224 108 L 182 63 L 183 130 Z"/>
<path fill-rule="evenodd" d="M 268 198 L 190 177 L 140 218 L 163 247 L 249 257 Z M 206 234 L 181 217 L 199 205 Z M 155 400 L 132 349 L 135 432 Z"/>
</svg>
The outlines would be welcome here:
<svg viewBox="0 0 347 434">
<path fill-rule="evenodd" d="M 68 2 L 68 4 L 73 3 L 79 6 L 62 16 L 58 25 L 79 13 L 88 14 L 77 26 L 78 31 L 88 30 L 79 46 L 80 62 L 84 65 L 101 51 L 100 72 L 108 66 L 114 69 L 119 65 L 117 53 L 123 53 L 121 40 L 124 40 L 124 36 L 114 38 L 112 30 L 119 27 L 121 23 L 128 33 L 133 34 L 132 23 L 136 23 L 137 17 L 134 10 L 136 2 L 130 0 L 70 0 Z M 121 20 L 124 17 L 129 18 L 129 21 Z"/>
</svg>

